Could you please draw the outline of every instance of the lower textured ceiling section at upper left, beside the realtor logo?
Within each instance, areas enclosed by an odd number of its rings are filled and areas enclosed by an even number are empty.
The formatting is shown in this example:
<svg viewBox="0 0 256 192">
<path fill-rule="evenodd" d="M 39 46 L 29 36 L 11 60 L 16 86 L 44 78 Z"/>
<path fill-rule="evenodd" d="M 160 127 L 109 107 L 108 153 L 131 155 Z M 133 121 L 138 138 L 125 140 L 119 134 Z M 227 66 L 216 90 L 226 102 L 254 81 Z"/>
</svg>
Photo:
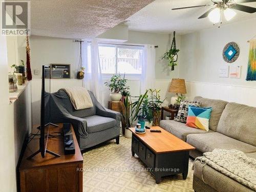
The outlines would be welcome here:
<svg viewBox="0 0 256 192">
<path fill-rule="evenodd" d="M 151 2 L 153 0 L 31 0 L 31 33 L 96 37 Z"/>
</svg>

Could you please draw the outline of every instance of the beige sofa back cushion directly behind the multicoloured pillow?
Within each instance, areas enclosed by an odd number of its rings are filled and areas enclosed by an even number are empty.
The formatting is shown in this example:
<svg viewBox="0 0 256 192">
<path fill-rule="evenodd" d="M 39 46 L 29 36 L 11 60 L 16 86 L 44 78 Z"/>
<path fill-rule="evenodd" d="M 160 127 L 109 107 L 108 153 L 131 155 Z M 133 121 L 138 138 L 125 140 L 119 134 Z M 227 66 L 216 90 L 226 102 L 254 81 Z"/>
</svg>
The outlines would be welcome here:
<svg viewBox="0 0 256 192">
<path fill-rule="evenodd" d="M 228 102 L 223 100 L 218 100 L 218 99 L 207 99 L 199 96 L 195 97 L 194 101 L 201 102 L 201 106 L 203 108 L 210 107 L 210 106 L 212 107 L 212 112 L 209 120 L 209 129 L 216 131 L 219 120 L 221 118 L 221 114 Z"/>
</svg>

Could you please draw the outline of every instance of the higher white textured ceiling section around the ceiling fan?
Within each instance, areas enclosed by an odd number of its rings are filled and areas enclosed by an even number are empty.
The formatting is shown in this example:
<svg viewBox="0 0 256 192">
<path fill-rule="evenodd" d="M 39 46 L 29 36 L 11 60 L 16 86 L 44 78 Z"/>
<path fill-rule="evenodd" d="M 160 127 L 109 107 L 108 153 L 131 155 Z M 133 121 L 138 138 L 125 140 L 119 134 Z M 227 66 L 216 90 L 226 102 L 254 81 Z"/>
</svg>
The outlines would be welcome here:
<svg viewBox="0 0 256 192">
<path fill-rule="evenodd" d="M 210 4 L 210 0 L 156 0 L 147 5 L 126 20 L 130 30 L 144 32 L 170 33 L 174 30 L 180 34 L 185 34 L 201 29 L 218 28 L 209 22 L 208 18 L 198 19 L 211 7 L 200 7 L 183 10 L 171 10 L 172 8 L 188 7 L 196 5 Z M 242 4 L 256 7 L 256 3 Z M 256 13 L 245 13 L 235 10 L 237 15 L 229 22 L 222 25 L 238 22 L 249 18 L 256 18 Z"/>
</svg>

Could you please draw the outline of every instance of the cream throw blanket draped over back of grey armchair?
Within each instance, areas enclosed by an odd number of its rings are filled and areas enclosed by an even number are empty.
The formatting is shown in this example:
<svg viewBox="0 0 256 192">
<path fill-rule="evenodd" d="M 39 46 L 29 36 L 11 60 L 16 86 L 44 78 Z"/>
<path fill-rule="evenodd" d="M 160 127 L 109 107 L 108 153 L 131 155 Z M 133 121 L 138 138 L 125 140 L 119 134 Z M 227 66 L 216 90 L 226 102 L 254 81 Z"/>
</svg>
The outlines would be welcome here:
<svg viewBox="0 0 256 192">
<path fill-rule="evenodd" d="M 76 110 L 88 109 L 93 107 L 93 101 L 87 89 L 83 87 L 63 88 L 71 100 Z"/>
</svg>

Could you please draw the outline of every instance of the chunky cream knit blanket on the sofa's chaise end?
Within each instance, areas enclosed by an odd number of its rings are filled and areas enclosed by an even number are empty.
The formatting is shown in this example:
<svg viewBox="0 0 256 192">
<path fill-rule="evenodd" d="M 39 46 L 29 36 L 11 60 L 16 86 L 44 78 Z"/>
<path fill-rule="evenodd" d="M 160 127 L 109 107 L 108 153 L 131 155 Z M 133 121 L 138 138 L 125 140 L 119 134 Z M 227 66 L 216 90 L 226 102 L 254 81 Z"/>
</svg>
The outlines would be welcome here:
<svg viewBox="0 0 256 192">
<path fill-rule="evenodd" d="M 256 159 L 238 150 L 215 149 L 195 159 L 256 191 Z"/>
</svg>

